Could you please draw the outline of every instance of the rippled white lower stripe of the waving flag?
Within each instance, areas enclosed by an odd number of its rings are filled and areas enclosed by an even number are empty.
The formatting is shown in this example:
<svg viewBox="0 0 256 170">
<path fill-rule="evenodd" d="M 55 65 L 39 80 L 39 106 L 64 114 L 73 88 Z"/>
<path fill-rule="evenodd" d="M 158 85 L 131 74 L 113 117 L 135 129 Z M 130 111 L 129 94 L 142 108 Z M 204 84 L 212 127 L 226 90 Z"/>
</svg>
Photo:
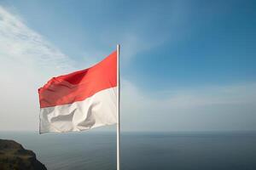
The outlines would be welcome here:
<svg viewBox="0 0 256 170">
<path fill-rule="evenodd" d="M 117 88 L 102 90 L 69 105 L 40 109 L 40 133 L 82 131 L 116 123 Z"/>
</svg>

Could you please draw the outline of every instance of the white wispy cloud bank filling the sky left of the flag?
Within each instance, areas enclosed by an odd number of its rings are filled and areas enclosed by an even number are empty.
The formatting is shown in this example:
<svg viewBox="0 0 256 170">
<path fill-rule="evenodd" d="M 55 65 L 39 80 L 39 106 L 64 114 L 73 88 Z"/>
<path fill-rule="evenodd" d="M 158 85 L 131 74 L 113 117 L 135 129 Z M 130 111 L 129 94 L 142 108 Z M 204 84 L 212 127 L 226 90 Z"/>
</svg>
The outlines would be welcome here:
<svg viewBox="0 0 256 170">
<path fill-rule="evenodd" d="M 49 75 L 71 71 L 72 65 L 73 60 L 0 6 L 1 130 L 37 130 L 37 89 Z"/>
</svg>

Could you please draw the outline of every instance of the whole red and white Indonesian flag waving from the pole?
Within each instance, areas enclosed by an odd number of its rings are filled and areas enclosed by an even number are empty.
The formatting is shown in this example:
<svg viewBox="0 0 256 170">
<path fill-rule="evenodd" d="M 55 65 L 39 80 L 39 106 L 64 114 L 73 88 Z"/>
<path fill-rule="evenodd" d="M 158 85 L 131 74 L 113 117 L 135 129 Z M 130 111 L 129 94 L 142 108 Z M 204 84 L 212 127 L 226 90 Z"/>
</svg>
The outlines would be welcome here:
<svg viewBox="0 0 256 170">
<path fill-rule="evenodd" d="M 39 133 L 82 131 L 117 122 L 117 52 L 38 89 Z"/>
</svg>

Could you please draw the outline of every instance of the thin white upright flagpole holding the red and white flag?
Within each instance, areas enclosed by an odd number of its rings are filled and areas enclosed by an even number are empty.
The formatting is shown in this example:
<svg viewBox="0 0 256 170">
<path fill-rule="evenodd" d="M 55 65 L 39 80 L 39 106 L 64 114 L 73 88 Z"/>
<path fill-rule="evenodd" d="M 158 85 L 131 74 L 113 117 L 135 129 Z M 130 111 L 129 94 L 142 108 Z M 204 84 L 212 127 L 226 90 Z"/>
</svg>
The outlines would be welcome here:
<svg viewBox="0 0 256 170">
<path fill-rule="evenodd" d="M 117 123 L 116 123 L 116 169 L 120 170 L 120 75 L 119 75 L 119 49 L 120 45 L 116 46 L 117 50 Z"/>
</svg>

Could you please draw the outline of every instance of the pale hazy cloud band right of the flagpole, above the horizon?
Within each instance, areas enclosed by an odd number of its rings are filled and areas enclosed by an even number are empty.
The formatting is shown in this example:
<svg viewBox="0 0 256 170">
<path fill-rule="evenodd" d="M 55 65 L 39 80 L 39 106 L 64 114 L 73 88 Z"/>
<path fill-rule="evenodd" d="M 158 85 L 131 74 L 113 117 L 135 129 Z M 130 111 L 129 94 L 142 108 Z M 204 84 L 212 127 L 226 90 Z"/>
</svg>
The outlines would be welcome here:
<svg viewBox="0 0 256 170">
<path fill-rule="evenodd" d="M 256 130 L 256 83 L 145 94 L 122 83 L 122 127 L 138 131 Z M 157 98 L 155 98 L 157 93 Z"/>
</svg>

